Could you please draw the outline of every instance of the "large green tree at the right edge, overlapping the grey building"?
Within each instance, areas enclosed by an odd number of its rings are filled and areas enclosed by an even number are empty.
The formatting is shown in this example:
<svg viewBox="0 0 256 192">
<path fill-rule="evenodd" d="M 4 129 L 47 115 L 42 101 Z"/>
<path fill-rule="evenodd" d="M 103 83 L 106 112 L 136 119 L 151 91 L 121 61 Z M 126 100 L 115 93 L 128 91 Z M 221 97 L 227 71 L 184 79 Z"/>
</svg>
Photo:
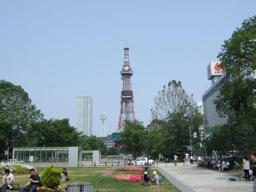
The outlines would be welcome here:
<svg viewBox="0 0 256 192">
<path fill-rule="evenodd" d="M 241 125 L 256 130 L 256 16 L 242 23 L 218 55 L 226 81 L 215 101 L 220 116 L 228 116 L 235 131 Z"/>
</svg>

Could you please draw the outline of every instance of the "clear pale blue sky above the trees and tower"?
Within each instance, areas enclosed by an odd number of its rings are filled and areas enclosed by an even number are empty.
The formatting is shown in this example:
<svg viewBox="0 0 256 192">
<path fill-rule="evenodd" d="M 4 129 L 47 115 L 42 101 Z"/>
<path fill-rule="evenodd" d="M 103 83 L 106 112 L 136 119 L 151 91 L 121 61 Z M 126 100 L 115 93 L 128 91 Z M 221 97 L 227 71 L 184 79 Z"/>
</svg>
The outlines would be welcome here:
<svg viewBox="0 0 256 192">
<path fill-rule="evenodd" d="M 126 34 L 135 116 L 151 120 L 154 97 L 172 79 L 196 101 L 207 64 L 255 14 L 256 1 L 0 1 L 0 79 L 22 86 L 44 117 L 76 126 L 76 96 L 93 97 L 106 133 L 117 128 Z"/>
</svg>

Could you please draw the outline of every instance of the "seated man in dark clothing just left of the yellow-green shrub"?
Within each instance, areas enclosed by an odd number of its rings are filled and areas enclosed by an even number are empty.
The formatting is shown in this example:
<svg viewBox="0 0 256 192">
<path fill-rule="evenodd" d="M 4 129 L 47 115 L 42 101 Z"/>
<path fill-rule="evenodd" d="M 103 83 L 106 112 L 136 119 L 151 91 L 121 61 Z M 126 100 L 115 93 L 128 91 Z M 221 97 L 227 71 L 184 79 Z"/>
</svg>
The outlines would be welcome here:
<svg viewBox="0 0 256 192">
<path fill-rule="evenodd" d="M 34 192 L 36 191 L 37 187 L 40 185 L 40 176 L 35 172 L 35 169 L 32 168 L 30 170 L 30 178 L 29 182 L 25 185 L 25 187 L 22 187 L 19 192 Z"/>
</svg>

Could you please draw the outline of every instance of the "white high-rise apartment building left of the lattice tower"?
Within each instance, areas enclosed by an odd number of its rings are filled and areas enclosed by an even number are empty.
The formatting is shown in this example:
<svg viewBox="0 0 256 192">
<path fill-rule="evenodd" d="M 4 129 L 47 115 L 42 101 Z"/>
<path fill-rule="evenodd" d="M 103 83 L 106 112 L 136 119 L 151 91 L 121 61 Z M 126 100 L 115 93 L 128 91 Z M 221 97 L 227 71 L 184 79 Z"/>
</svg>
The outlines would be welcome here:
<svg viewBox="0 0 256 192">
<path fill-rule="evenodd" d="M 82 134 L 93 134 L 93 99 L 88 96 L 77 97 L 77 121 L 76 128 Z"/>
</svg>

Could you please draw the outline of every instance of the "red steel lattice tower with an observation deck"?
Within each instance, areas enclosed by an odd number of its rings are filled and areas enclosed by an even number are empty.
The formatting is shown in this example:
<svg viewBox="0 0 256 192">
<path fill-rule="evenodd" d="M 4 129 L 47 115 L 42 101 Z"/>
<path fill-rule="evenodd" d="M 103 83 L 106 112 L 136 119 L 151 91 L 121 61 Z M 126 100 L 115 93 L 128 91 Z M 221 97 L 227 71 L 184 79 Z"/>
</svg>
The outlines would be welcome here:
<svg viewBox="0 0 256 192">
<path fill-rule="evenodd" d="M 123 80 L 123 90 L 121 91 L 121 109 L 117 130 L 123 130 L 125 128 L 125 120 L 135 120 L 133 91 L 132 84 L 130 82 L 130 77 L 132 76 L 133 71 L 132 68 L 130 68 L 129 48 L 124 48 L 124 64 L 120 73 L 121 79 Z"/>
</svg>

